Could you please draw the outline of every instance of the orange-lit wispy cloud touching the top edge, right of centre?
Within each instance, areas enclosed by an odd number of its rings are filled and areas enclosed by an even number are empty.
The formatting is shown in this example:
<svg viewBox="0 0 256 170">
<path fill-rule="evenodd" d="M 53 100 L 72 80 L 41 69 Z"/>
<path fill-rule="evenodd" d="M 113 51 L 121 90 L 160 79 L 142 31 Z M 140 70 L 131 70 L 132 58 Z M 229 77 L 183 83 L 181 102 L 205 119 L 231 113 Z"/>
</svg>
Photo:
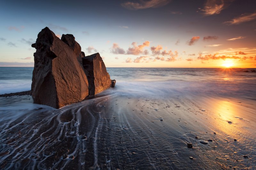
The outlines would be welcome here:
<svg viewBox="0 0 256 170">
<path fill-rule="evenodd" d="M 207 0 L 204 4 L 204 9 L 198 9 L 203 11 L 204 15 L 220 14 L 220 11 L 224 9 L 224 0 Z"/>
</svg>

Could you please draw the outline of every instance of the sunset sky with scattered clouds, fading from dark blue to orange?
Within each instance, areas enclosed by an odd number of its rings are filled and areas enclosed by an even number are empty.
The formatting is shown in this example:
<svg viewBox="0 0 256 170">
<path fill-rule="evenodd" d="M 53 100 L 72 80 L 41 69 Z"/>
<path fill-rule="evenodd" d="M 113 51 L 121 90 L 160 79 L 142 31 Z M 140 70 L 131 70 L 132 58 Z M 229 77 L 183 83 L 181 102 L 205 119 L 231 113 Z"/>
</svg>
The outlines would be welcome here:
<svg viewBox="0 0 256 170">
<path fill-rule="evenodd" d="M 106 67 L 256 67 L 255 0 L 1 0 L 0 21 L 0 67 L 33 67 L 46 26 Z"/>
</svg>

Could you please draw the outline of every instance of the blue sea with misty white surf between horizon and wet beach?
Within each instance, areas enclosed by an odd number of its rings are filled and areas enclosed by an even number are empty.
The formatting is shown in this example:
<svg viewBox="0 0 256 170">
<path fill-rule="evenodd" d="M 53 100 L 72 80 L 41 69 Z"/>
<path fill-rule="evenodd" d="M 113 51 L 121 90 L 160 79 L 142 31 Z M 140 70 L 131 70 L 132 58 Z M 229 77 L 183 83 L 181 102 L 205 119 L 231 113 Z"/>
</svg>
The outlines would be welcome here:
<svg viewBox="0 0 256 170">
<path fill-rule="evenodd" d="M 176 90 L 256 97 L 253 68 L 107 68 L 111 79 L 136 86 L 159 84 Z M 31 89 L 33 67 L 0 67 L 0 94 Z"/>
</svg>

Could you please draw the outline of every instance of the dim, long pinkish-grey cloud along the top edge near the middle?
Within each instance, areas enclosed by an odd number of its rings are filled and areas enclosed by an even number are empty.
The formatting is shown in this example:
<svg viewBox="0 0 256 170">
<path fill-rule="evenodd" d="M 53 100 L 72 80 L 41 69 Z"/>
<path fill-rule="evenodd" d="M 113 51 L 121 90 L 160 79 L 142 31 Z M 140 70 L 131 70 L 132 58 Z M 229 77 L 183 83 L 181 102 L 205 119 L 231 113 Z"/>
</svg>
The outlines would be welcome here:
<svg viewBox="0 0 256 170">
<path fill-rule="evenodd" d="M 125 2 L 121 4 L 128 10 L 141 10 L 147 8 L 158 8 L 168 4 L 170 0 L 139 0 L 139 2 Z"/>
</svg>

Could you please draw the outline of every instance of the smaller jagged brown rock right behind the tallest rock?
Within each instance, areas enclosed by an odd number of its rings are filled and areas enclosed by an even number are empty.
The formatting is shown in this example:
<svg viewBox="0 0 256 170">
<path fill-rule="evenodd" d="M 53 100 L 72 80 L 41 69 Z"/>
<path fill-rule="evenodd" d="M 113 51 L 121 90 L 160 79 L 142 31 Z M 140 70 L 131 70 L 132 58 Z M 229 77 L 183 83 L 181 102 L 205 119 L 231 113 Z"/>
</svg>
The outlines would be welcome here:
<svg viewBox="0 0 256 170">
<path fill-rule="evenodd" d="M 96 95 L 109 87 L 115 85 L 112 83 L 107 72 L 105 64 L 99 53 L 83 57 L 83 66 L 89 82 L 89 95 Z"/>
</svg>

